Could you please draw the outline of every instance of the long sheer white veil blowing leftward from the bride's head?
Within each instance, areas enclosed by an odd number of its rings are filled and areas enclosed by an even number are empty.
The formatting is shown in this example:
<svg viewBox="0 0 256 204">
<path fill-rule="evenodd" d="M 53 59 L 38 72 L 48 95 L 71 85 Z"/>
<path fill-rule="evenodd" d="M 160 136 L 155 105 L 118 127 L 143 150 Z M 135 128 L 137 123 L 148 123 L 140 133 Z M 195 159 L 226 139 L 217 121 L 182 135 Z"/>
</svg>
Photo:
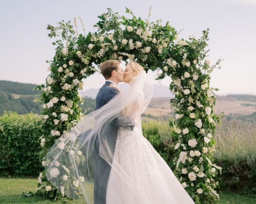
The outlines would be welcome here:
<svg viewBox="0 0 256 204">
<path fill-rule="evenodd" d="M 108 125 L 112 125 L 122 110 L 130 107 L 138 94 L 143 92 L 144 104 L 140 109 L 140 115 L 147 108 L 153 88 L 148 82 L 145 71 L 133 77 L 130 82 L 130 92 L 119 93 L 110 102 L 98 110 L 84 116 L 74 127 L 56 139 L 46 155 L 45 175 L 48 181 L 62 194 L 69 198 L 83 198 L 87 204 L 92 203 L 93 197 L 93 151 L 95 145 L 99 145 L 99 156 L 105 159 L 112 167 L 114 142 L 111 135 L 108 136 Z M 132 115 L 132 112 L 131 112 Z M 141 117 L 139 124 L 141 124 Z M 112 123 L 112 124 L 111 124 Z M 140 196 L 140 186 L 137 186 L 125 174 L 121 166 L 118 167 L 119 177 L 128 185 L 130 190 Z"/>
</svg>

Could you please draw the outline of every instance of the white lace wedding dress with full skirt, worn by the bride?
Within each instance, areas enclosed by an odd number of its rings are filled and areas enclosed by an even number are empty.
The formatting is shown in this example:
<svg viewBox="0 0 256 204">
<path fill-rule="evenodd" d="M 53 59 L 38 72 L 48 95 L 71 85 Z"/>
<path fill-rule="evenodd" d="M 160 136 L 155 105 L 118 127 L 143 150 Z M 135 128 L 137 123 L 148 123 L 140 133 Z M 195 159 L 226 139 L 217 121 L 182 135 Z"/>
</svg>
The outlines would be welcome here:
<svg viewBox="0 0 256 204">
<path fill-rule="evenodd" d="M 195 204 L 168 164 L 143 136 L 140 117 L 143 102 L 141 91 L 135 101 L 138 108 L 131 115 L 137 119 L 134 130 L 119 127 L 106 204 Z"/>
</svg>

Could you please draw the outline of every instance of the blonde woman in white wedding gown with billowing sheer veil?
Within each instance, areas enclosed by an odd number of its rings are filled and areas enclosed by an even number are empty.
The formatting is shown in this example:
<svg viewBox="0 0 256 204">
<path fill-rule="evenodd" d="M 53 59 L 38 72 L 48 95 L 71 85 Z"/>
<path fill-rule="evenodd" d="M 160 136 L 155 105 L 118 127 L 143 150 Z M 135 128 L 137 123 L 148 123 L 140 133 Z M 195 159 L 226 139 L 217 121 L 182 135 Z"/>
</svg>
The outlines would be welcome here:
<svg viewBox="0 0 256 204">
<path fill-rule="evenodd" d="M 194 204 L 168 164 L 143 136 L 141 114 L 153 95 L 143 67 L 129 62 L 124 81 L 130 86 L 128 94 L 119 92 L 55 140 L 46 155 L 48 181 L 62 195 L 69 198 L 83 195 L 87 204 L 93 203 L 93 182 L 97 175 L 93 171 L 93 150 L 97 141 L 97 153 L 111 166 L 107 204 Z M 113 150 L 107 127 L 119 115 L 134 118 L 136 125 L 133 130 L 119 127 Z"/>
</svg>

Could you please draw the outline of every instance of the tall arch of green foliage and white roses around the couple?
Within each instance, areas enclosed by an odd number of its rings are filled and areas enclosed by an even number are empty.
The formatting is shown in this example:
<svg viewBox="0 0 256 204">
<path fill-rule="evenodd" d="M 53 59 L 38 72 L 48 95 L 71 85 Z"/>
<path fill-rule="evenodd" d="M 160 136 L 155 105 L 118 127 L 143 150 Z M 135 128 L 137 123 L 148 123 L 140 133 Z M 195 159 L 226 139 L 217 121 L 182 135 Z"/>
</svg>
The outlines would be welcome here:
<svg viewBox="0 0 256 204">
<path fill-rule="evenodd" d="M 210 87 L 210 73 L 221 68 L 218 60 L 210 65 L 207 57 L 209 28 L 201 38 L 190 36 L 189 40 L 179 40 L 178 32 L 167 22 L 149 22 L 137 18 L 130 9 L 126 12 L 131 18 L 120 17 L 111 8 L 99 17 L 94 33 L 85 34 L 83 22 L 79 17 L 84 34 L 78 34 L 77 20 L 74 27 L 70 21 L 62 20 L 58 27 L 48 25 L 49 37 L 58 37 L 55 56 L 51 61 L 46 83 L 36 89 L 41 93 L 42 130 L 40 137 L 42 150 L 39 152 L 42 165 L 49 147 L 59 136 L 76 125 L 83 114 L 78 103 L 83 98 L 78 90 L 83 88 L 82 79 L 98 71 L 101 62 L 108 59 L 133 59 L 143 65 L 146 71 L 160 70 L 157 79 L 172 77 L 170 90 L 175 94 L 171 108 L 175 110 L 175 121 L 170 122 L 175 142 L 176 166 L 173 172 L 195 203 L 216 203 L 219 199 L 214 190 L 218 181 L 214 177 L 221 173 L 221 167 L 212 163 L 216 123 L 220 117 L 212 111 L 218 91 Z M 65 197 L 52 186 L 44 175 L 38 177 L 37 195 L 47 198 Z M 63 195 L 61 195 L 61 193 Z"/>
</svg>

